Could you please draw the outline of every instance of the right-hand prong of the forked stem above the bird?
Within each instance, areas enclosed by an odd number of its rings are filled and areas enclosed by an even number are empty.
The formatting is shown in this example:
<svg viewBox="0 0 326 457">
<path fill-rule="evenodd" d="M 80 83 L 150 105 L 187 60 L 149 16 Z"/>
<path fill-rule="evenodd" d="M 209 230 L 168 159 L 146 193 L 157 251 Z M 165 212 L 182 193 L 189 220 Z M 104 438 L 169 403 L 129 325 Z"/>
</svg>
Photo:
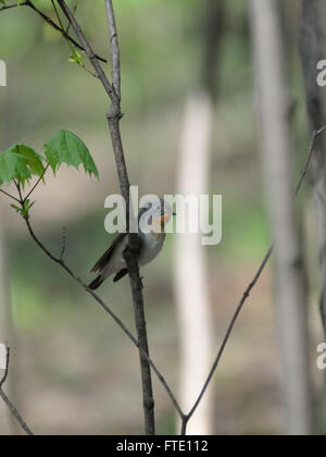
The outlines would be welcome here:
<svg viewBox="0 0 326 457">
<path fill-rule="evenodd" d="M 116 91 L 117 97 L 121 99 L 120 49 L 118 49 L 118 39 L 117 39 L 112 0 L 105 0 L 105 9 L 106 9 L 109 33 L 110 33 L 112 83 L 113 83 L 113 87 Z"/>
</svg>

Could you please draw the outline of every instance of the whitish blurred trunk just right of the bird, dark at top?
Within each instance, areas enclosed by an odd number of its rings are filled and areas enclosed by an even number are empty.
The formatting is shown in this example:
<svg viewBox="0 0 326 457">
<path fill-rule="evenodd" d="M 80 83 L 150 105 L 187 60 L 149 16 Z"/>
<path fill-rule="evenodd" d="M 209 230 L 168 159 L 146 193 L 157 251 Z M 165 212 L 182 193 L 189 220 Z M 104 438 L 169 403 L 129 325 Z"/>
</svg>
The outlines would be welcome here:
<svg viewBox="0 0 326 457">
<path fill-rule="evenodd" d="M 218 49 L 223 35 L 224 1 L 206 0 L 201 23 L 202 65 L 199 89 L 188 97 L 180 138 L 177 192 L 181 195 L 209 193 L 213 103 L 217 92 Z M 177 236 L 175 287 L 180 322 L 181 406 L 189 411 L 212 363 L 212 328 L 209 274 L 200 235 Z M 213 402 L 210 392 L 188 424 L 187 432 L 211 434 Z"/>
</svg>

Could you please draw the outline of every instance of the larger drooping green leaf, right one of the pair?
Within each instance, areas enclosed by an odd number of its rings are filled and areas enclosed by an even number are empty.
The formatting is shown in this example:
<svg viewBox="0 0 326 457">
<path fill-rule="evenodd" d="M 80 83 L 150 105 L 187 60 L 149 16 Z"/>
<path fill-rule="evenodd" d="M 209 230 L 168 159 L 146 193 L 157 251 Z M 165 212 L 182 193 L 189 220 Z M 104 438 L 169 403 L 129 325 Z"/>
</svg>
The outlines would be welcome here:
<svg viewBox="0 0 326 457">
<path fill-rule="evenodd" d="M 85 143 L 72 132 L 61 129 L 45 144 L 46 158 L 53 172 L 62 163 L 78 170 L 83 165 L 86 173 L 99 176 L 98 169 Z"/>
</svg>

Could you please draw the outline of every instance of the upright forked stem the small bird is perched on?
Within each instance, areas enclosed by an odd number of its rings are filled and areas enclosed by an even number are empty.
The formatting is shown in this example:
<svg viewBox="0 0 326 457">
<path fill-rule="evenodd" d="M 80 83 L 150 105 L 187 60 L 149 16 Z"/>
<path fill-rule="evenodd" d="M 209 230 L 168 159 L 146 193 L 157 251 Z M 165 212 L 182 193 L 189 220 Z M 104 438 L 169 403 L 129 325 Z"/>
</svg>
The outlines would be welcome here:
<svg viewBox="0 0 326 457">
<path fill-rule="evenodd" d="M 111 134 L 116 169 L 121 185 L 122 195 L 126 201 L 126 220 L 128 228 L 128 238 L 129 245 L 125 251 L 125 260 L 127 263 L 130 288 L 133 295 L 133 305 L 135 310 L 135 320 L 136 329 L 139 342 L 139 357 L 140 357 L 140 367 L 141 367 L 141 379 L 142 379 L 142 397 L 143 397 L 143 412 L 145 412 L 145 430 L 146 434 L 153 435 L 155 434 L 154 425 L 154 399 L 153 399 L 153 390 L 152 390 L 152 380 L 151 380 L 151 368 L 147 357 L 143 355 L 143 351 L 149 355 L 148 349 L 148 338 L 146 330 L 146 320 L 145 320 L 145 310 L 143 310 L 143 295 L 142 295 L 142 283 L 139 274 L 138 265 L 138 254 L 140 249 L 139 238 L 137 234 L 129 232 L 129 177 L 125 161 L 123 141 L 120 129 L 120 121 L 122 119 L 121 112 L 121 102 L 120 102 L 120 81 L 121 81 L 121 70 L 120 70 L 120 51 L 117 35 L 115 29 L 115 18 L 113 12 L 112 0 L 105 0 L 109 30 L 110 30 L 110 41 L 111 41 L 111 58 L 112 58 L 112 74 L 113 74 L 113 84 L 112 86 L 109 83 L 109 79 L 99 63 L 90 44 L 82 32 L 75 16 L 66 5 L 64 0 L 58 0 L 63 13 L 72 25 L 75 34 L 80 40 L 85 52 L 91 62 L 100 82 L 102 83 L 108 96 L 111 100 L 111 107 L 106 113 L 106 120 L 109 124 L 109 129 Z"/>
</svg>

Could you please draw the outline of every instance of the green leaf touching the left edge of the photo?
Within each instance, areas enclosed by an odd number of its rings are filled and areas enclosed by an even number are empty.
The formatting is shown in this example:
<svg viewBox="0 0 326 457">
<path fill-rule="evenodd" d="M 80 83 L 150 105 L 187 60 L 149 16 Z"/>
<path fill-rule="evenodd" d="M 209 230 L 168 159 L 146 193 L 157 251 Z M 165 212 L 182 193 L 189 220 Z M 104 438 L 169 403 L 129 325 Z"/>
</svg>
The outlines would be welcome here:
<svg viewBox="0 0 326 457">
<path fill-rule="evenodd" d="M 22 185 L 33 175 L 41 176 L 45 172 L 42 157 L 26 145 L 14 145 L 0 152 L 0 185 L 16 180 Z"/>
</svg>

